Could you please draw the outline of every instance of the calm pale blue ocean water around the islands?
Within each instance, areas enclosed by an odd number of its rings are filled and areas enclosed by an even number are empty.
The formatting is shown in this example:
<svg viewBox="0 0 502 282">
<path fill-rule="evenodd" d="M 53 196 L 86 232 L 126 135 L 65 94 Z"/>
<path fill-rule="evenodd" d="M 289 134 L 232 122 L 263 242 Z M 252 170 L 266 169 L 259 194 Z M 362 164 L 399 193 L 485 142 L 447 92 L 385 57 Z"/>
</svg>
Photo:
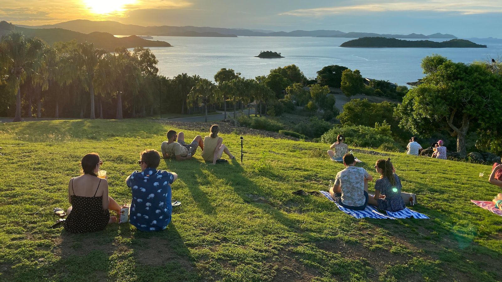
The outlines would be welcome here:
<svg viewBox="0 0 502 282">
<path fill-rule="evenodd" d="M 311 78 L 327 65 L 358 69 L 363 77 L 389 80 L 399 85 L 423 77 L 420 62 L 440 54 L 455 62 L 470 63 L 502 56 L 502 39 L 469 39 L 488 48 L 342 48 L 347 38 L 314 37 L 170 37 L 154 36 L 174 47 L 150 48 L 159 60 L 160 73 L 173 77 L 186 72 L 214 80 L 221 68 L 231 68 L 245 78 L 267 75 L 271 69 L 297 65 Z M 446 39 L 434 39 L 445 41 Z M 280 52 L 285 58 L 256 58 L 260 51 Z"/>
</svg>

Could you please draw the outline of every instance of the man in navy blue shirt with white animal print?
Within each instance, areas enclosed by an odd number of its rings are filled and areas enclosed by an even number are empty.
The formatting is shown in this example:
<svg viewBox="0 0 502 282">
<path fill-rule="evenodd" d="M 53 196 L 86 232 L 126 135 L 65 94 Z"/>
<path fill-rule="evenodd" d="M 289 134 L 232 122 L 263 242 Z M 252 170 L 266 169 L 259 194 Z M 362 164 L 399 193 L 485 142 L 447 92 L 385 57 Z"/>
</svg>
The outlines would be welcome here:
<svg viewBox="0 0 502 282">
<path fill-rule="evenodd" d="M 133 172 L 126 184 L 131 187 L 133 202 L 130 208 L 131 224 L 141 231 L 163 230 L 171 222 L 171 184 L 178 178 L 174 172 L 157 170 L 159 152 L 146 150 L 138 161 L 141 171 Z"/>
</svg>

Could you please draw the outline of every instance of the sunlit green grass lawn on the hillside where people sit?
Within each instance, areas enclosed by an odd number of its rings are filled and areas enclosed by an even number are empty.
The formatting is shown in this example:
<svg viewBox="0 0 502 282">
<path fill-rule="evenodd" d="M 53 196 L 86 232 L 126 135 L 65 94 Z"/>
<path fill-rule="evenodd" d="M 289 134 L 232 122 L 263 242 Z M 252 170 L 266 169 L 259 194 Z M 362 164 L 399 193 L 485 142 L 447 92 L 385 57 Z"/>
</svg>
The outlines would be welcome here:
<svg viewBox="0 0 502 282">
<path fill-rule="evenodd" d="M 124 179 L 167 130 L 138 119 L 0 124 L 0 280 L 500 280 L 502 217 L 469 202 L 500 192 L 487 182 L 489 166 L 391 153 L 403 190 L 418 195 L 414 209 L 431 219 L 357 220 L 325 198 L 291 194 L 326 189 L 342 169 L 326 145 L 259 136 L 244 136 L 242 166 L 207 166 L 200 151 L 162 161 L 178 173 L 173 198 L 183 203 L 164 231 L 50 229 L 52 209 L 69 206 L 82 156 L 97 152 L 110 195 L 129 202 Z M 239 135 L 222 137 L 238 156 Z M 387 158 L 356 156 L 373 177 L 374 162 Z"/>
</svg>

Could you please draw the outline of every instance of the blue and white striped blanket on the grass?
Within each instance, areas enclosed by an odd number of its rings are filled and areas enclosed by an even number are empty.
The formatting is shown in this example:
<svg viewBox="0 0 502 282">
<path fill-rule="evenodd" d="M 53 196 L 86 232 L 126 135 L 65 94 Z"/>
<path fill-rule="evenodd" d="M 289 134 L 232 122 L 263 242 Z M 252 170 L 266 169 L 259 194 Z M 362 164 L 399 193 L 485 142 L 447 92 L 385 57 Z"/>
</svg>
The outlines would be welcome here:
<svg viewBox="0 0 502 282">
<path fill-rule="evenodd" d="M 396 218 L 414 217 L 414 218 L 419 218 L 419 219 L 429 219 L 429 217 L 427 215 L 416 212 L 416 211 L 412 211 L 409 208 L 405 208 L 404 210 L 400 210 L 397 212 L 388 211 L 387 215 L 384 215 L 384 214 L 378 212 L 376 210 L 376 207 L 370 206 L 370 205 L 367 205 L 366 208 L 362 211 L 355 211 L 355 210 L 347 209 L 347 208 L 344 208 L 344 207 L 338 205 L 338 203 L 336 203 L 335 200 L 333 200 L 333 198 L 331 198 L 331 195 L 329 195 L 329 192 L 326 192 L 326 191 L 319 191 L 319 192 L 321 192 L 326 198 L 328 198 L 328 200 L 330 200 L 331 202 L 334 202 L 336 204 L 336 206 L 342 212 L 344 212 L 350 216 L 353 216 L 355 218 L 369 217 L 369 218 L 382 218 L 382 219 L 396 219 Z M 369 195 L 369 196 L 372 197 L 373 195 Z"/>
</svg>

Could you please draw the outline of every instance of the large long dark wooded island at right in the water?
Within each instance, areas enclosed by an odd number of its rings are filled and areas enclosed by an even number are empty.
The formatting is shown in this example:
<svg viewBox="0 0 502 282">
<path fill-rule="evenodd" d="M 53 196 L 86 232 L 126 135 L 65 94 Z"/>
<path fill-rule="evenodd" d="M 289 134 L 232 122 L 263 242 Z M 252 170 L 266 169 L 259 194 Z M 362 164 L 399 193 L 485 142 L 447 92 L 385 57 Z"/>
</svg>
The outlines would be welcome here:
<svg viewBox="0 0 502 282">
<path fill-rule="evenodd" d="M 443 42 L 430 40 L 401 40 L 386 37 L 363 37 L 342 43 L 340 47 L 362 48 L 487 48 L 465 39 L 452 39 Z"/>
</svg>

